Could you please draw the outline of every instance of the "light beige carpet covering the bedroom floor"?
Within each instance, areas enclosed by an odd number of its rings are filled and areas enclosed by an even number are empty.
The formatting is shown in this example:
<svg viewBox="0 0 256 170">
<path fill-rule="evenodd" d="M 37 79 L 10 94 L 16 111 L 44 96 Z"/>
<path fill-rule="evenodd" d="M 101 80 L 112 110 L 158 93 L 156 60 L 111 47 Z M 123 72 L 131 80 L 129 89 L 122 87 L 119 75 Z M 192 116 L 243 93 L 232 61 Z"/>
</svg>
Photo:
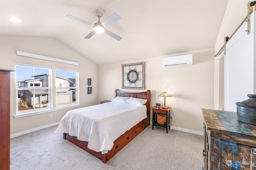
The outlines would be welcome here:
<svg viewBox="0 0 256 170">
<path fill-rule="evenodd" d="M 12 138 L 11 170 L 202 170 L 204 137 L 148 126 L 104 164 L 62 139 L 57 126 Z"/>
</svg>

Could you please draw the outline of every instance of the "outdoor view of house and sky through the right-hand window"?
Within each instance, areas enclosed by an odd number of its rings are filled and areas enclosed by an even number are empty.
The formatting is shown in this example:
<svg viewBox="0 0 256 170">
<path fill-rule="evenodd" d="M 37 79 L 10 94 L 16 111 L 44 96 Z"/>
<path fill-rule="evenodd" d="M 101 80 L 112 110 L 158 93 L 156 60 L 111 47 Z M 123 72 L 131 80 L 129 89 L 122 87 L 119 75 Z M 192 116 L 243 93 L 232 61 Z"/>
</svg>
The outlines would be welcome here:
<svg viewBox="0 0 256 170">
<path fill-rule="evenodd" d="M 78 71 L 56 68 L 56 106 L 77 104 Z"/>
</svg>

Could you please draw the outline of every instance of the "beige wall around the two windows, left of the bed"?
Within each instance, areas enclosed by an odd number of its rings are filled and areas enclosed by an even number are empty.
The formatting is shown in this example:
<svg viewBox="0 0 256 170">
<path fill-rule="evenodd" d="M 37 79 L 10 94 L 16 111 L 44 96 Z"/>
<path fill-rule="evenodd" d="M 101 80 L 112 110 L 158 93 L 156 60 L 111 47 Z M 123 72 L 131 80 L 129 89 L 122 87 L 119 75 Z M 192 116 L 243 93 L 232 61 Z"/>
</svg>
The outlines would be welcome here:
<svg viewBox="0 0 256 170">
<path fill-rule="evenodd" d="M 66 68 L 72 70 L 79 70 L 79 100 L 81 107 L 99 104 L 97 100 L 98 92 L 98 66 L 78 55 L 74 51 L 68 49 L 64 45 L 52 38 L 44 37 L 14 37 L 1 36 L 0 37 L 0 68 L 15 70 L 15 63 L 37 64 L 43 66 L 52 66 L 52 68 Z M 80 63 L 78 66 L 64 63 L 57 63 L 53 61 L 46 61 L 41 59 L 33 59 L 30 57 L 23 57 L 16 55 L 16 51 L 23 51 L 47 57 L 54 57 L 57 59 L 64 59 Z M 55 76 L 55 72 L 52 72 Z M 10 98 L 10 133 L 15 134 L 29 129 L 34 129 L 51 123 L 56 123 L 61 120 L 63 115 L 70 109 L 54 111 L 50 113 L 43 113 L 39 115 L 32 115 L 27 117 L 20 117 L 14 119 L 16 114 L 16 98 L 15 98 L 15 72 L 11 74 L 11 98 Z M 92 94 L 87 94 L 87 78 L 92 78 Z M 54 83 L 54 82 L 53 82 Z M 53 94 L 54 94 L 53 90 Z M 53 95 L 53 100 L 55 100 Z M 75 107 L 78 108 L 78 107 Z M 74 109 L 74 108 L 71 108 Z M 50 118 L 50 114 L 53 117 Z"/>
</svg>

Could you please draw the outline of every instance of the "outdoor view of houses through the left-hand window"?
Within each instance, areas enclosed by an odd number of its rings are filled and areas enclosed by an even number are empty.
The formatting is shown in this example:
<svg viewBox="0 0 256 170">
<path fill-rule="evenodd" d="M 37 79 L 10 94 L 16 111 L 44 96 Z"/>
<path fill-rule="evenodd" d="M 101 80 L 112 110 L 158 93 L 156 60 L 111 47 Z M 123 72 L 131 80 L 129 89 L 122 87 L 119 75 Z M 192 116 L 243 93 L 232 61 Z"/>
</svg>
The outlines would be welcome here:
<svg viewBox="0 0 256 170">
<path fill-rule="evenodd" d="M 16 64 L 16 114 L 49 109 L 51 67 Z"/>
</svg>

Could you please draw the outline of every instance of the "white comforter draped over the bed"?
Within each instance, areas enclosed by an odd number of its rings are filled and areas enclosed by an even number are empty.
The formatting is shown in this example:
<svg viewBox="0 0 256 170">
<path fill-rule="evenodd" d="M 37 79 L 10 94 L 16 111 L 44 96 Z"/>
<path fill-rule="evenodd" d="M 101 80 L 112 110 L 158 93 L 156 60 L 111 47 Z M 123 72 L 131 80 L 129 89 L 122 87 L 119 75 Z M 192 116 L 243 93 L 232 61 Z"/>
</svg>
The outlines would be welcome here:
<svg viewBox="0 0 256 170">
<path fill-rule="evenodd" d="M 114 141 L 147 117 L 146 106 L 109 102 L 68 111 L 56 133 L 69 133 L 88 148 L 107 153 Z"/>
</svg>

